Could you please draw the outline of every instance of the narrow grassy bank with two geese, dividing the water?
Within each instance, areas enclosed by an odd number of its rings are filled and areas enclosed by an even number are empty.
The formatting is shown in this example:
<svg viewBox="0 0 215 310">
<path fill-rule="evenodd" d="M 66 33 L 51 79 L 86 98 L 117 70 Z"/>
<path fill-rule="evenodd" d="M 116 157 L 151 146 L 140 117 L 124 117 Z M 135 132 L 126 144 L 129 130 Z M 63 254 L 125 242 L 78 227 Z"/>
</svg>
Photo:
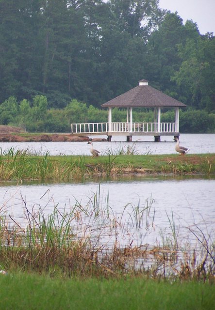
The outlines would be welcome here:
<svg viewBox="0 0 215 310">
<path fill-rule="evenodd" d="M 8 150 L 0 154 L 0 179 L 74 181 L 124 174 L 215 174 L 215 154 L 50 156 Z"/>
</svg>

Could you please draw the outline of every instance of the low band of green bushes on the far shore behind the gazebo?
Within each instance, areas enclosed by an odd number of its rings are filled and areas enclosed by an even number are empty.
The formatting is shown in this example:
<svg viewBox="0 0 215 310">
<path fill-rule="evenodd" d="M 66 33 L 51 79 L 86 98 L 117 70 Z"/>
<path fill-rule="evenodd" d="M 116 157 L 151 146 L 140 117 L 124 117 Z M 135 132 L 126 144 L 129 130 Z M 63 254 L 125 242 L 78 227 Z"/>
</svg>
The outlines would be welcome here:
<svg viewBox="0 0 215 310">
<path fill-rule="evenodd" d="M 174 109 L 163 111 L 162 122 L 173 122 Z M 113 109 L 113 122 L 126 122 L 125 109 Z M 48 109 L 47 97 L 36 95 L 32 105 L 26 99 L 19 104 L 13 96 L 0 105 L 0 124 L 21 127 L 29 132 L 70 132 L 72 123 L 105 123 L 108 111 L 72 99 L 63 109 Z M 133 109 L 133 122 L 154 122 L 153 110 Z M 180 110 L 180 131 L 215 132 L 215 114 L 205 110 Z"/>
</svg>

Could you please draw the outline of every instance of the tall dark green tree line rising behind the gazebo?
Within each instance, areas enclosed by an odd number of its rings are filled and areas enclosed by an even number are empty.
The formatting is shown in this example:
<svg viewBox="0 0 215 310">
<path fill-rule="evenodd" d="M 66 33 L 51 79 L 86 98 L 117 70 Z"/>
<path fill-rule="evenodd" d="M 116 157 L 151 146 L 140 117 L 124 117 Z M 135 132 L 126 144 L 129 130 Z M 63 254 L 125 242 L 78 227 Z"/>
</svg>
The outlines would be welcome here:
<svg viewBox="0 0 215 310">
<path fill-rule="evenodd" d="M 215 113 L 214 59 L 213 33 L 183 25 L 159 0 L 0 0 L 0 107 L 14 97 L 23 117 L 38 96 L 46 110 L 72 99 L 99 108 L 142 78 Z"/>
</svg>

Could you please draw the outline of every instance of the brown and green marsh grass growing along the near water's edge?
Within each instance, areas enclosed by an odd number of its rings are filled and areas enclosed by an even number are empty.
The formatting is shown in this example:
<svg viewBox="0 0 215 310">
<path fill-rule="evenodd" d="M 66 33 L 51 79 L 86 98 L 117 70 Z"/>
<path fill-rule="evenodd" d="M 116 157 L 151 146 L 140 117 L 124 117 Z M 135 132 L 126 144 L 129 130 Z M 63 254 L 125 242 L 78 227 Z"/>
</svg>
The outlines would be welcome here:
<svg viewBox="0 0 215 310">
<path fill-rule="evenodd" d="M 133 245 L 132 227 L 149 231 L 155 220 L 154 200 L 149 197 L 141 205 L 128 203 L 121 214 L 109 206 L 109 194 L 102 204 L 100 188 L 92 193 L 83 206 L 66 208 L 53 206 L 46 215 L 45 209 L 24 205 L 25 224 L 19 224 L 2 209 L 0 217 L 0 265 L 2 269 L 48 273 L 65 277 L 107 277 L 145 275 L 149 278 L 214 279 L 215 243 L 196 226 L 190 228 L 202 250 L 197 252 L 179 247 L 173 213 L 167 218 L 172 231 L 167 240 L 163 233 L 162 246 Z M 129 213 L 129 220 L 125 220 Z M 127 217 L 126 217 L 127 218 Z M 150 233 L 150 232 L 149 232 Z M 130 235 L 121 246 L 122 237 Z M 113 242 L 103 239 L 108 235 Z M 169 236 L 169 234 L 168 234 Z M 153 263 L 152 263 L 153 262 Z"/>
</svg>

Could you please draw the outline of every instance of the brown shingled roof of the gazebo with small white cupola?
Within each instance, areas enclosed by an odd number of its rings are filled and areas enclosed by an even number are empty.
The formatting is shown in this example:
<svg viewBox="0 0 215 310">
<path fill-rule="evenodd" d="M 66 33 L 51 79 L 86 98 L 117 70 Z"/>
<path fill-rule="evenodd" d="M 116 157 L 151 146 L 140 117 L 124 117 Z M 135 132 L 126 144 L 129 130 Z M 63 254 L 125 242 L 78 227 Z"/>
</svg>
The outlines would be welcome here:
<svg viewBox="0 0 215 310">
<path fill-rule="evenodd" d="M 158 91 L 149 86 L 146 79 L 139 81 L 139 85 L 130 91 L 123 93 L 116 98 L 101 105 L 102 108 L 108 107 L 186 107 L 182 102 Z"/>
</svg>

